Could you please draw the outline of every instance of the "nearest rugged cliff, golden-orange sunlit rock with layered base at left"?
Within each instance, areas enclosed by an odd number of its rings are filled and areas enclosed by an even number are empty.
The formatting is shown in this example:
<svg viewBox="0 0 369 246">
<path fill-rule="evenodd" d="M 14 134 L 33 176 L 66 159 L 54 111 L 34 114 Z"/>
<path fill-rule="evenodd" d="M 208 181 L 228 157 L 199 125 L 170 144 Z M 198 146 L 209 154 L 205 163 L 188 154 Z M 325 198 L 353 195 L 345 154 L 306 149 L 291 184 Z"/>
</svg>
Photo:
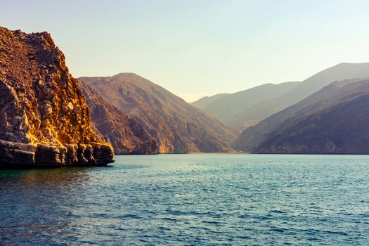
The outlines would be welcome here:
<svg viewBox="0 0 369 246">
<path fill-rule="evenodd" d="M 107 164 L 114 152 L 47 32 L 0 27 L 1 165 Z"/>
</svg>

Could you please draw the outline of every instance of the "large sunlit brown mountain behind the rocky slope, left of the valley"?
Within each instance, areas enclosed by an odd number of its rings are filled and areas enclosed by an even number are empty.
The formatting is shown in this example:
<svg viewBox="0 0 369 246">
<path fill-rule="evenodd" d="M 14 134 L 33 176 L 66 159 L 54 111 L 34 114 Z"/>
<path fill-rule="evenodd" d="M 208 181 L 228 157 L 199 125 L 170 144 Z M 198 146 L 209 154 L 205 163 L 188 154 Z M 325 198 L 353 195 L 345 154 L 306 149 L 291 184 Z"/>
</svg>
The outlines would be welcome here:
<svg viewBox="0 0 369 246">
<path fill-rule="evenodd" d="M 145 127 L 159 153 L 231 150 L 232 129 L 148 79 L 132 73 L 80 79 Z"/>
</svg>

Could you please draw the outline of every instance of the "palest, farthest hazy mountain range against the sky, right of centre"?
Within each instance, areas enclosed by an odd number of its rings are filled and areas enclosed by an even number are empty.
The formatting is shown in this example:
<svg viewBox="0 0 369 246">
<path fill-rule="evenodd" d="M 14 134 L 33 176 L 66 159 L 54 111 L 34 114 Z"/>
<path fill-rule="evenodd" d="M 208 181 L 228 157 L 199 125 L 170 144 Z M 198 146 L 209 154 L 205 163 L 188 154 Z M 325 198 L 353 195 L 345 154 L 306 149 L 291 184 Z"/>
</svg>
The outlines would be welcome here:
<svg viewBox="0 0 369 246">
<path fill-rule="evenodd" d="M 303 82 L 273 86 L 265 84 L 221 97 L 202 110 L 231 126 L 245 129 L 301 101 L 331 82 L 368 76 L 369 63 L 340 63 Z"/>
</svg>

